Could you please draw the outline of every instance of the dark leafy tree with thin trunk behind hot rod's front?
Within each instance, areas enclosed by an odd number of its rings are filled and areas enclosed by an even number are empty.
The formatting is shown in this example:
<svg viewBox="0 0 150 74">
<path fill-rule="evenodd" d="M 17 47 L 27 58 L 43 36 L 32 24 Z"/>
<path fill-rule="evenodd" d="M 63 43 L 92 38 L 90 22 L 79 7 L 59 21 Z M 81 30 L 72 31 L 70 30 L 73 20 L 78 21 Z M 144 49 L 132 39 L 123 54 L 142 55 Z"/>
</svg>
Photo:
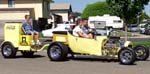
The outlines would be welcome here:
<svg viewBox="0 0 150 74">
<path fill-rule="evenodd" d="M 113 14 L 124 20 L 125 30 L 127 31 L 127 23 L 130 22 L 130 19 L 139 16 L 149 0 L 106 0 L 106 2 L 111 7 Z M 127 32 L 125 40 L 127 40 Z"/>
</svg>

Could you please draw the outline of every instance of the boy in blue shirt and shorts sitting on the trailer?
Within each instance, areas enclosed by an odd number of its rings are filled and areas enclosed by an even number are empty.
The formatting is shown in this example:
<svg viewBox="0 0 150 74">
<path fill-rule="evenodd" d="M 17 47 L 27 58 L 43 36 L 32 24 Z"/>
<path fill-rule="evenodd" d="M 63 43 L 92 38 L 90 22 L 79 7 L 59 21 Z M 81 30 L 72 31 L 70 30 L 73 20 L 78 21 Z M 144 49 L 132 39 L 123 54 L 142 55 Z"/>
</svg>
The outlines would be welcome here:
<svg viewBox="0 0 150 74">
<path fill-rule="evenodd" d="M 22 29 L 26 34 L 31 34 L 32 45 L 35 45 L 35 39 L 37 39 L 36 44 L 41 45 L 41 42 L 39 41 L 39 33 L 33 30 L 32 22 L 30 21 L 30 15 L 25 15 L 25 20 L 23 21 Z"/>
</svg>

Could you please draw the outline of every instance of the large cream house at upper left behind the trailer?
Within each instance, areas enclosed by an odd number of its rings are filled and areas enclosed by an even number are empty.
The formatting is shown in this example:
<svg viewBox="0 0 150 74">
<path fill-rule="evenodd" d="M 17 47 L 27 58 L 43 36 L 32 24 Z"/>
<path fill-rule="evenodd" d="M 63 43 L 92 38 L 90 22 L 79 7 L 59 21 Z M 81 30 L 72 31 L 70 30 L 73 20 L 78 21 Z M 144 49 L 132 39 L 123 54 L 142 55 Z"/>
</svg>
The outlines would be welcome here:
<svg viewBox="0 0 150 74">
<path fill-rule="evenodd" d="M 26 14 L 35 20 L 49 17 L 50 0 L 0 0 L 0 22 L 20 21 Z"/>
</svg>

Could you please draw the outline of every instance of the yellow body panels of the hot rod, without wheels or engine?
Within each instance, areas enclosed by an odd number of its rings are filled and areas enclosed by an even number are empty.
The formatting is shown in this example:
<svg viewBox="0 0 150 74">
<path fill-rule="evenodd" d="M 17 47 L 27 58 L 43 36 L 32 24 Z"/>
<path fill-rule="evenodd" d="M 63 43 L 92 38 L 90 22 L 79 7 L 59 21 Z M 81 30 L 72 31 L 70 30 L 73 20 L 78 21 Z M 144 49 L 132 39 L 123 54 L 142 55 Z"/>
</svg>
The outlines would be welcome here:
<svg viewBox="0 0 150 74">
<path fill-rule="evenodd" d="M 73 53 L 106 56 L 107 49 L 104 49 L 105 44 L 108 42 L 107 36 L 96 36 L 94 39 L 82 38 L 73 36 L 69 32 L 66 34 L 53 34 L 53 42 L 63 42 L 66 44 Z M 126 41 L 123 44 L 124 47 L 132 46 L 132 42 Z M 112 52 L 118 53 L 121 47 L 115 47 Z M 117 58 L 117 55 L 109 55 Z"/>
</svg>

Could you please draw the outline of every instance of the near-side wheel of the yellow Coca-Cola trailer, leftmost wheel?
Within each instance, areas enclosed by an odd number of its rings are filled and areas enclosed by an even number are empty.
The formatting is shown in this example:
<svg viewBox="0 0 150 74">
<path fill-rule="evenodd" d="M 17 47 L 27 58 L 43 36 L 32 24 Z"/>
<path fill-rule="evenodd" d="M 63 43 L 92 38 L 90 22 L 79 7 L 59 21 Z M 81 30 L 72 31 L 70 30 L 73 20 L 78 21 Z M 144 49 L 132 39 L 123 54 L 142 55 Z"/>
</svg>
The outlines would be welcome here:
<svg viewBox="0 0 150 74">
<path fill-rule="evenodd" d="M 2 47 L 2 55 L 4 58 L 14 58 L 17 50 L 11 44 L 4 44 Z"/>
</svg>

